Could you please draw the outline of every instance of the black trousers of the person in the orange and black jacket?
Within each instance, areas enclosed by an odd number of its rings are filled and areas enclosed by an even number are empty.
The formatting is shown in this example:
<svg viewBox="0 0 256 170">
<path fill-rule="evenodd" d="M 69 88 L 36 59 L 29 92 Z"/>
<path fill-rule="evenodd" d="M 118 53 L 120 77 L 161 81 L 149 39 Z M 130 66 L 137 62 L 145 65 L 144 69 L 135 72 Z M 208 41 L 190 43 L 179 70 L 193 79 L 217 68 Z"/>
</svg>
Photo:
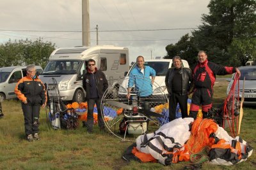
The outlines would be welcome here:
<svg viewBox="0 0 256 170">
<path fill-rule="evenodd" d="M 40 104 L 21 104 L 26 136 L 38 133 L 40 107 Z"/>
</svg>

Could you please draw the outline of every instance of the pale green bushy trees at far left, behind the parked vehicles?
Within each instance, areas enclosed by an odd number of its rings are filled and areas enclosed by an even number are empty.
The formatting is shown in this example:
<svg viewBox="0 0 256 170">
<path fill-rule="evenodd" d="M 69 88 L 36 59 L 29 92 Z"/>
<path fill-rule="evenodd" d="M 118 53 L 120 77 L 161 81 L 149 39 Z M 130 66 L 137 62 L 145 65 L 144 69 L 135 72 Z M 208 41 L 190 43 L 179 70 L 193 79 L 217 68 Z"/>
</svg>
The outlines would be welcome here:
<svg viewBox="0 0 256 170">
<path fill-rule="evenodd" d="M 11 39 L 0 45 L 0 66 L 21 66 L 35 64 L 45 67 L 54 43 L 44 42 L 42 38 L 31 41 L 21 39 L 14 42 Z"/>
</svg>

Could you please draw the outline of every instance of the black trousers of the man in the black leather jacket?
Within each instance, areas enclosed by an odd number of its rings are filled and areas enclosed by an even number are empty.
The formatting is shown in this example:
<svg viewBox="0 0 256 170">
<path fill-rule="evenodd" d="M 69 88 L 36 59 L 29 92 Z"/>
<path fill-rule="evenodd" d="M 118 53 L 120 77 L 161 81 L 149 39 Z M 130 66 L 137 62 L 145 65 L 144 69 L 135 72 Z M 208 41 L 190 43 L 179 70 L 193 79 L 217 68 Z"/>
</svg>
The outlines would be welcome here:
<svg viewBox="0 0 256 170">
<path fill-rule="evenodd" d="M 176 108 L 179 103 L 182 118 L 188 117 L 188 95 L 173 93 L 169 97 L 169 121 L 176 118 Z"/>
</svg>

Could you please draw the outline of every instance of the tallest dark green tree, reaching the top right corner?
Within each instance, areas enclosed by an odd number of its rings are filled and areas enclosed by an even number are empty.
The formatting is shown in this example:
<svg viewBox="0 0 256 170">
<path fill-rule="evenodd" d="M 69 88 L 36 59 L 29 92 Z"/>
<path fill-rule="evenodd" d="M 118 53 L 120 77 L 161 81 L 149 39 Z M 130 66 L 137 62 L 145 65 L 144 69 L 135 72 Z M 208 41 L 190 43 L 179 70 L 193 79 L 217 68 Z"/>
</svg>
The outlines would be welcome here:
<svg viewBox="0 0 256 170">
<path fill-rule="evenodd" d="M 202 25 L 193 31 L 193 41 L 205 50 L 211 61 L 228 64 L 228 47 L 234 38 L 252 38 L 256 34 L 255 0 L 211 0 L 209 15 L 202 15 Z"/>
</svg>

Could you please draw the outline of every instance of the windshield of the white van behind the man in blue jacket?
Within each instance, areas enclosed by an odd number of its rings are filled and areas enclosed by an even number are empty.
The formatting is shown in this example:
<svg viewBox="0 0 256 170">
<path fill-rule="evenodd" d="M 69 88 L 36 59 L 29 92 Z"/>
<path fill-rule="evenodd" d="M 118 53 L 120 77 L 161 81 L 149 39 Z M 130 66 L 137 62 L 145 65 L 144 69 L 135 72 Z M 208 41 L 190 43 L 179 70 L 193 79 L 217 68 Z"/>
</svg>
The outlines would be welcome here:
<svg viewBox="0 0 256 170">
<path fill-rule="evenodd" d="M 157 61 L 144 63 L 145 66 L 150 66 L 156 71 L 156 76 L 165 76 L 168 71 L 169 64 L 170 62 L 157 62 Z M 132 69 L 134 69 L 135 66 L 136 64 L 133 65 Z"/>
</svg>

